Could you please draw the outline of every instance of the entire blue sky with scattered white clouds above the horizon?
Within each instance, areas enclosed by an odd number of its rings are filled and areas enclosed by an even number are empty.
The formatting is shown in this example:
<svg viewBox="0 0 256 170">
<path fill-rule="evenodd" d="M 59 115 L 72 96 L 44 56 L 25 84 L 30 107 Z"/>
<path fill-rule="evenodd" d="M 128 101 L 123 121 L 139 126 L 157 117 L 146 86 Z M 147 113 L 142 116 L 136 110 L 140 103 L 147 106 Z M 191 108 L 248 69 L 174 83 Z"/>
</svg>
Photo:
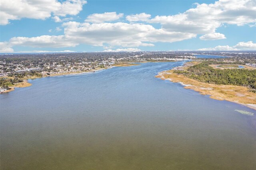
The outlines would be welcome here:
<svg viewBox="0 0 256 170">
<path fill-rule="evenodd" d="M 255 0 L 0 0 L 0 53 L 256 50 Z"/>
</svg>

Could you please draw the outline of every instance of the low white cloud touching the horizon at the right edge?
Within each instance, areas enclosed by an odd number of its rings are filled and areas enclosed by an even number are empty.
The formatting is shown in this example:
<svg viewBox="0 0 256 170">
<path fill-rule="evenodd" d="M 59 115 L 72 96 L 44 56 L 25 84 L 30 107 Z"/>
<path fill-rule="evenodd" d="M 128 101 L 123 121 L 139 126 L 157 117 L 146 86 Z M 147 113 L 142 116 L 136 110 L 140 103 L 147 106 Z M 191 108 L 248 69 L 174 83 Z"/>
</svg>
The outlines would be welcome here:
<svg viewBox="0 0 256 170">
<path fill-rule="evenodd" d="M 239 42 L 236 45 L 230 47 L 229 45 L 218 45 L 211 48 L 200 48 L 199 51 L 233 51 L 233 50 L 256 50 L 256 43 L 250 42 Z"/>
</svg>

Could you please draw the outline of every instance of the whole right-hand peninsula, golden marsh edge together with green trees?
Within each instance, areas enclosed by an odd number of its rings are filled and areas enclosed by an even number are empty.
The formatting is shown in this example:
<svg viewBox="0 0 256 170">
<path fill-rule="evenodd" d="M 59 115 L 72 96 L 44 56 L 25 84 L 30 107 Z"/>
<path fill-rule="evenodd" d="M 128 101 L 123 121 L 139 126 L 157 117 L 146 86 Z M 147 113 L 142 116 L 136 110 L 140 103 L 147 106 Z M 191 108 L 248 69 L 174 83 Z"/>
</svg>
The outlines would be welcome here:
<svg viewBox="0 0 256 170">
<path fill-rule="evenodd" d="M 228 69 L 226 72 L 230 71 L 230 73 L 227 73 L 226 75 L 228 81 L 223 77 L 216 78 L 218 75 L 216 75 L 215 72 L 208 73 L 208 70 L 206 70 L 205 67 L 208 67 L 210 70 L 220 68 L 218 71 L 223 70 L 226 67 Z M 200 68 L 204 69 L 204 73 L 201 74 L 199 72 Z M 239 68 L 243 70 L 241 70 L 240 73 L 237 72 L 232 75 L 231 69 Z M 233 70 L 233 72 L 236 71 L 238 70 Z M 244 75 L 241 75 L 242 73 Z M 215 77 L 211 74 L 215 74 Z M 238 75 L 244 77 L 244 81 L 241 77 L 234 77 Z M 183 66 L 162 71 L 158 73 L 156 77 L 170 80 L 174 83 L 180 83 L 184 85 L 185 89 L 193 89 L 202 95 L 210 95 L 210 98 L 212 99 L 239 103 L 256 110 L 256 68 L 254 67 L 246 65 L 208 65 L 205 62 L 192 61 L 185 63 Z M 230 80 L 230 77 L 233 79 Z M 248 80 L 248 82 L 246 82 L 246 80 Z"/>
</svg>

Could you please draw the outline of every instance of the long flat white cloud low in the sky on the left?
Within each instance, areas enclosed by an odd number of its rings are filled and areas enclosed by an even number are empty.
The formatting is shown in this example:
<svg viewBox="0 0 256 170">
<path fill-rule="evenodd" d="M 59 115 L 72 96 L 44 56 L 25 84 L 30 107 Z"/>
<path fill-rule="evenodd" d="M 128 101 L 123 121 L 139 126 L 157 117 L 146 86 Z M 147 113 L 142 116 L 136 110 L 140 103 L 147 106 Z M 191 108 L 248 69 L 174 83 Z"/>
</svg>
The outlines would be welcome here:
<svg viewBox="0 0 256 170">
<path fill-rule="evenodd" d="M 65 36 L 38 36 L 38 37 L 14 37 L 10 39 L 10 45 L 29 47 L 74 47 L 76 42 L 67 40 Z"/>
</svg>

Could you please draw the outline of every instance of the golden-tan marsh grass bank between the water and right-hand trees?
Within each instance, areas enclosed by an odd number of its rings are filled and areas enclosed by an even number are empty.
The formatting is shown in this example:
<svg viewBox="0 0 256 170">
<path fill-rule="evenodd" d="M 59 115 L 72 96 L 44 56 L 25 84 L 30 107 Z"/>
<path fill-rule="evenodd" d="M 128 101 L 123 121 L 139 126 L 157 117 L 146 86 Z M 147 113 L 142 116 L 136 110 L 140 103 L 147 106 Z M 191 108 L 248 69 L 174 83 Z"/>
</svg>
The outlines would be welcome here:
<svg viewBox="0 0 256 170">
<path fill-rule="evenodd" d="M 174 73 L 174 70 L 187 70 L 191 65 L 199 62 L 188 62 L 183 66 L 175 67 L 172 70 L 162 71 L 156 77 L 163 80 L 170 80 L 174 83 L 184 85 L 185 89 L 193 89 L 202 95 L 210 95 L 210 98 L 216 100 L 226 100 L 234 103 L 250 107 L 256 110 L 256 94 L 249 92 L 247 87 L 237 85 L 216 85 L 209 83 L 202 83 L 195 79 L 190 79 L 183 74 Z"/>
</svg>

